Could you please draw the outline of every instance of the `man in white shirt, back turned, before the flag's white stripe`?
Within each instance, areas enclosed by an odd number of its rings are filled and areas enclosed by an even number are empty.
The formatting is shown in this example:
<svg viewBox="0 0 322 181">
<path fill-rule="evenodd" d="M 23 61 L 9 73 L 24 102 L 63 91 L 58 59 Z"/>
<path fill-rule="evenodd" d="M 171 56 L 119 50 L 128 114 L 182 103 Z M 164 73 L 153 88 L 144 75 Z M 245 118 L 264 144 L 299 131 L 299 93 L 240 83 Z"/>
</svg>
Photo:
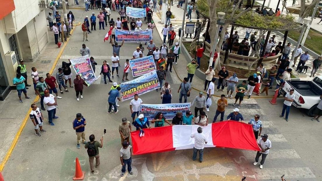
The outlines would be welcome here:
<svg viewBox="0 0 322 181">
<path fill-rule="evenodd" d="M 207 138 L 202 133 L 202 128 L 199 127 L 197 129 L 197 133 L 192 134 L 191 138 L 194 138 L 194 154 L 192 156 L 192 159 L 197 159 L 197 152 L 199 151 L 199 161 L 201 163 L 204 156 L 204 143 L 207 144 Z"/>
</svg>

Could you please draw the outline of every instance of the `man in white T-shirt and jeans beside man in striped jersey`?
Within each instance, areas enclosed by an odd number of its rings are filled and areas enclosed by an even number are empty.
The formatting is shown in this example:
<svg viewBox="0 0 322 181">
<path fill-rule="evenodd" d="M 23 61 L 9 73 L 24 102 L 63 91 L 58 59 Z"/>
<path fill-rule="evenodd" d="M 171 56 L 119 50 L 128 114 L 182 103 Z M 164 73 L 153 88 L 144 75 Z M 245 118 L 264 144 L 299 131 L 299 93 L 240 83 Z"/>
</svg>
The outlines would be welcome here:
<svg viewBox="0 0 322 181">
<path fill-rule="evenodd" d="M 47 105 L 48 122 L 50 125 L 54 126 L 55 124 L 52 122 L 52 119 L 58 118 L 58 116 L 56 116 L 57 99 L 52 94 L 49 94 L 48 89 L 46 89 L 43 92 L 45 94 L 45 97 L 43 98 L 43 103 Z"/>
</svg>

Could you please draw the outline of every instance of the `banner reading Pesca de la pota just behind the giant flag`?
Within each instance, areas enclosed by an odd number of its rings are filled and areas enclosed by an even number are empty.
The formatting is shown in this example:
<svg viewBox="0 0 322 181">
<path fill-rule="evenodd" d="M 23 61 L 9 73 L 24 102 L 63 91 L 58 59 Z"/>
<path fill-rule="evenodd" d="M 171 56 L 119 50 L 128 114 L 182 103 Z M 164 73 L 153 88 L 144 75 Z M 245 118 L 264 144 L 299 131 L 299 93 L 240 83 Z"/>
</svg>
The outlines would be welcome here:
<svg viewBox="0 0 322 181">
<path fill-rule="evenodd" d="M 148 120 L 153 120 L 158 112 L 163 113 L 166 119 L 175 117 L 178 111 L 185 115 L 190 110 L 191 103 L 175 103 L 175 104 L 141 104 L 140 114 L 143 114 Z"/>
</svg>

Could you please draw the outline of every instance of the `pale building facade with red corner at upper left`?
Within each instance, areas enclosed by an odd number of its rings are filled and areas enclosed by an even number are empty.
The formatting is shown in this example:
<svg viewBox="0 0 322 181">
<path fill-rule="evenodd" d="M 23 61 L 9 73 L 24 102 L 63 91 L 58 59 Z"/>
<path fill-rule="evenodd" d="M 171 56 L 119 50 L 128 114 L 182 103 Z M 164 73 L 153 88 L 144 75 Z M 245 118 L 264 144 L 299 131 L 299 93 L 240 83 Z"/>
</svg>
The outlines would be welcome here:
<svg viewBox="0 0 322 181">
<path fill-rule="evenodd" d="M 48 42 L 40 0 L 5 0 L 0 6 L 0 100 L 14 88 L 18 61 L 32 62 Z M 31 70 L 28 70 L 31 72 Z"/>
</svg>

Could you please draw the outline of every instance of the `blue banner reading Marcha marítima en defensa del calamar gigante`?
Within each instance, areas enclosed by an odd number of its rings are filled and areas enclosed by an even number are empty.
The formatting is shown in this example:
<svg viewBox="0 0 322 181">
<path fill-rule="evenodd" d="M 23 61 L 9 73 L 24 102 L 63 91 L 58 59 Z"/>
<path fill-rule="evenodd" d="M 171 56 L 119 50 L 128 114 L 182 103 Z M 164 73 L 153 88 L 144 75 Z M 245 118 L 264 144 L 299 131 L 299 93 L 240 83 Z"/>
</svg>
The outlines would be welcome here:
<svg viewBox="0 0 322 181">
<path fill-rule="evenodd" d="M 115 29 L 116 41 L 126 41 L 126 42 L 148 42 L 152 40 L 152 29 L 142 30 L 142 31 L 128 31 Z"/>
</svg>

